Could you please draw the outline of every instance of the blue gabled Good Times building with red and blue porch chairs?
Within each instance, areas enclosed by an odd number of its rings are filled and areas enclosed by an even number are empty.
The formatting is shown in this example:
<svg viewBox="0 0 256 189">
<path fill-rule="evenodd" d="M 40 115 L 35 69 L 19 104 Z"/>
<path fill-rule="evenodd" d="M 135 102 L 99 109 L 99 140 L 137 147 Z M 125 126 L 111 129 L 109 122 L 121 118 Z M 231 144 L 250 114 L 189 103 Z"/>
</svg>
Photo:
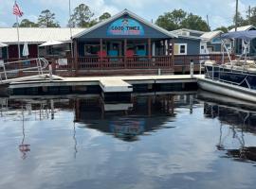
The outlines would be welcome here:
<svg viewBox="0 0 256 189">
<path fill-rule="evenodd" d="M 173 72 L 172 42 L 176 36 L 129 10 L 74 37 L 76 68 L 159 69 Z"/>
</svg>

